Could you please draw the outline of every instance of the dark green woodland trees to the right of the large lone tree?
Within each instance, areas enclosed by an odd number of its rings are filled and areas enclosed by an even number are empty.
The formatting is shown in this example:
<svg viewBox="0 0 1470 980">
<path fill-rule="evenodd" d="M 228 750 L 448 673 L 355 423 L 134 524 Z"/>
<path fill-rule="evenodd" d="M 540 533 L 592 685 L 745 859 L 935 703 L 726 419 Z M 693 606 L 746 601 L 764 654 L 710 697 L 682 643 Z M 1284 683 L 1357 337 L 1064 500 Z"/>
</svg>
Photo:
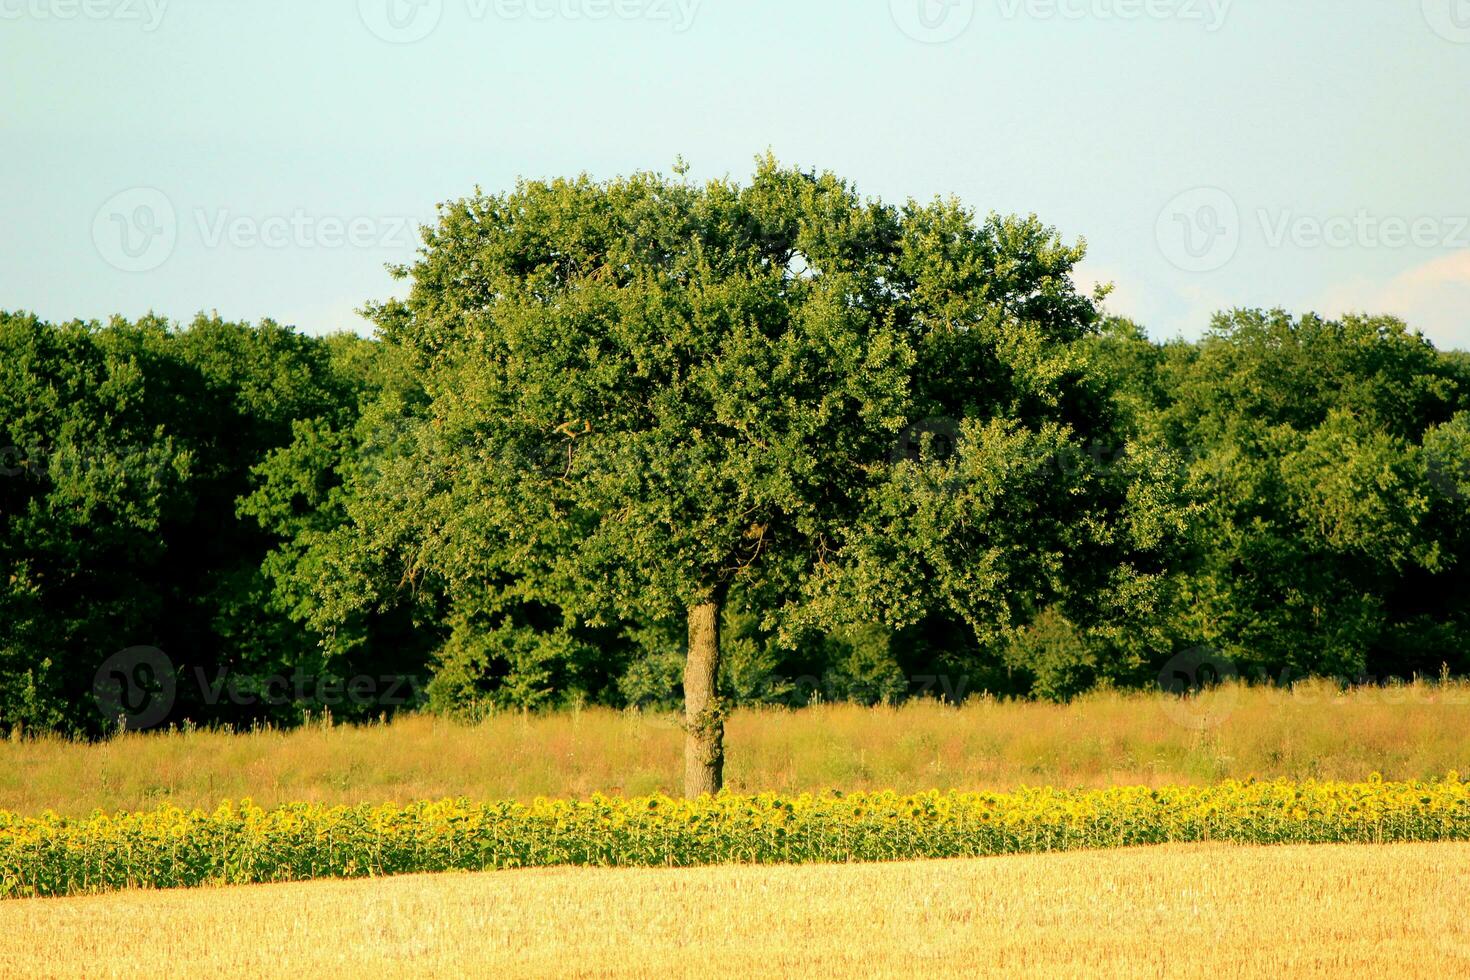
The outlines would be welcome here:
<svg viewBox="0 0 1470 980">
<path fill-rule="evenodd" d="M 1194 547 L 1164 629 L 1242 673 L 1466 666 L 1466 381 L 1392 317 L 1214 319 L 1198 344 L 1119 326 L 1100 357 L 1141 441 L 1189 460 Z"/>
</svg>

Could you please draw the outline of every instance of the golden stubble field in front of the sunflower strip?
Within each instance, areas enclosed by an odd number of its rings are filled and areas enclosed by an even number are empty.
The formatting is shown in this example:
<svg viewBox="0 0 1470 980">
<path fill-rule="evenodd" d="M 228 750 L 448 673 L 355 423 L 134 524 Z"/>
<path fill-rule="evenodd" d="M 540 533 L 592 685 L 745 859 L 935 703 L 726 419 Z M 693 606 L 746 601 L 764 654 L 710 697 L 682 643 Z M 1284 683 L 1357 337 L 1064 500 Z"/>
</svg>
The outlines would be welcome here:
<svg viewBox="0 0 1470 980">
<path fill-rule="evenodd" d="M 1470 845 L 498 871 L 0 904 L 0 976 L 1470 974 Z"/>
</svg>

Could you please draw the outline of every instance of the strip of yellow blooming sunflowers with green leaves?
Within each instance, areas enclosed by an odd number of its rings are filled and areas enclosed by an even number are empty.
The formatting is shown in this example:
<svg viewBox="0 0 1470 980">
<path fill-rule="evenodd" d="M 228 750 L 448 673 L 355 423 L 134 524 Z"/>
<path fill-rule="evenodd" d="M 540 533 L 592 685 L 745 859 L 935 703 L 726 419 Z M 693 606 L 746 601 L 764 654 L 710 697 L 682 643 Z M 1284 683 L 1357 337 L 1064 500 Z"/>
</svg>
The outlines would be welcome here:
<svg viewBox="0 0 1470 980">
<path fill-rule="evenodd" d="M 1470 839 L 1470 783 L 1225 782 L 1167 789 L 825 793 L 213 811 L 0 811 L 0 898 L 482 871 L 969 858 L 1235 842 Z"/>
</svg>

